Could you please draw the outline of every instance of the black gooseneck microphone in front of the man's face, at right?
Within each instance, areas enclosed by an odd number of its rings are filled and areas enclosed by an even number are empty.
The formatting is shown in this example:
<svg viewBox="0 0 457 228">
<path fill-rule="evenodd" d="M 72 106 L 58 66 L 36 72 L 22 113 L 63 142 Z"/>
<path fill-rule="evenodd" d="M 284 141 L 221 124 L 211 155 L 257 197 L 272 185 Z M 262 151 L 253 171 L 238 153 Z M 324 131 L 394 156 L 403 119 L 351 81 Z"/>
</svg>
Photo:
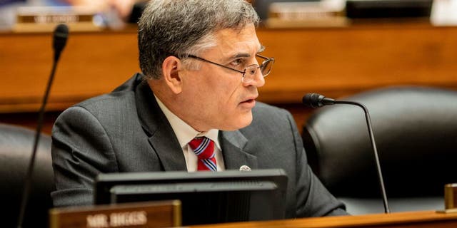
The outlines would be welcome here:
<svg viewBox="0 0 457 228">
<path fill-rule="evenodd" d="M 332 98 L 326 98 L 325 96 L 318 93 L 307 93 L 303 96 L 302 99 L 303 105 L 310 108 L 319 108 L 323 105 L 334 105 L 334 104 L 346 104 L 346 105 L 356 105 L 363 109 L 366 118 L 366 125 L 368 126 L 368 133 L 370 133 L 371 147 L 373 147 L 374 157 L 376 160 L 376 170 L 378 172 L 379 187 L 381 188 L 381 194 L 383 197 L 384 212 L 386 214 L 390 213 L 391 210 L 388 207 L 386 188 L 384 187 L 383 174 L 381 172 L 381 165 L 379 165 L 378 149 L 376 148 L 376 142 L 374 140 L 373 128 L 371 127 L 371 118 L 368 113 L 368 108 L 365 107 L 362 103 L 358 103 L 350 100 L 335 100 Z"/>
</svg>

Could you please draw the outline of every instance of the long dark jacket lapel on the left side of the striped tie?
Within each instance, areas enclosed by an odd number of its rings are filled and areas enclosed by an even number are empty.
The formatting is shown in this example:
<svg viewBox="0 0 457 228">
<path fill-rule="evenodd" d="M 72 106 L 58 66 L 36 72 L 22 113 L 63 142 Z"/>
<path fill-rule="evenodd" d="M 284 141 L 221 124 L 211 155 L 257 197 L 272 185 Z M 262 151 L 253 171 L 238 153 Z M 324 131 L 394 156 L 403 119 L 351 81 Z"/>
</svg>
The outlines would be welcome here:
<svg viewBox="0 0 457 228">
<path fill-rule="evenodd" d="M 153 152 L 159 157 L 161 168 L 165 171 L 187 170 L 179 141 L 146 81 L 136 87 L 135 96 L 139 120 L 149 136 Z"/>
</svg>

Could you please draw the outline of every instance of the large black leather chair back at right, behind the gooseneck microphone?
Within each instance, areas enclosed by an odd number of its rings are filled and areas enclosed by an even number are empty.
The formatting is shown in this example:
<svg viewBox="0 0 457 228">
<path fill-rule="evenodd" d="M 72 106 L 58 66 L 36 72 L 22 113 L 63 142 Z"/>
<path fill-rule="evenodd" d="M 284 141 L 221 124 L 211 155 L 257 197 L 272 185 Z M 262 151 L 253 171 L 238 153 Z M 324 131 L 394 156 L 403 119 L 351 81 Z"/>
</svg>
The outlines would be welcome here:
<svg viewBox="0 0 457 228">
<path fill-rule="evenodd" d="M 396 86 L 341 100 L 369 110 L 391 210 L 443 209 L 444 185 L 457 182 L 457 91 Z M 302 136 L 314 172 L 349 212 L 383 212 L 361 108 L 316 110 Z"/>
</svg>

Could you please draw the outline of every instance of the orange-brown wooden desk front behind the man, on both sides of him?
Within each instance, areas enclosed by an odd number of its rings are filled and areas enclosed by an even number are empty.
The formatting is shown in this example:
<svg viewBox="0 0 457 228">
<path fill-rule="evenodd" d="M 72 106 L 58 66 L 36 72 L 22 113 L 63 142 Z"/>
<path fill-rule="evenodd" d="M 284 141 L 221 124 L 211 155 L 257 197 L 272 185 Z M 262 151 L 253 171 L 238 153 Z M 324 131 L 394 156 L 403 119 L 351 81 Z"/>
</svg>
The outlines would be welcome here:
<svg viewBox="0 0 457 228">
<path fill-rule="evenodd" d="M 341 97 L 398 84 L 457 89 L 455 26 L 259 29 L 258 37 L 264 54 L 276 58 L 258 100 L 291 110 L 298 126 L 309 113 L 300 104 L 309 92 Z M 51 59 L 50 33 L 0 33 L 0 119 L 38 110 Z M 137 59 L 135 29 L 71 33 L 47 110 L 59 113 L 113 90 L 139 71 Z"/>
</svg>

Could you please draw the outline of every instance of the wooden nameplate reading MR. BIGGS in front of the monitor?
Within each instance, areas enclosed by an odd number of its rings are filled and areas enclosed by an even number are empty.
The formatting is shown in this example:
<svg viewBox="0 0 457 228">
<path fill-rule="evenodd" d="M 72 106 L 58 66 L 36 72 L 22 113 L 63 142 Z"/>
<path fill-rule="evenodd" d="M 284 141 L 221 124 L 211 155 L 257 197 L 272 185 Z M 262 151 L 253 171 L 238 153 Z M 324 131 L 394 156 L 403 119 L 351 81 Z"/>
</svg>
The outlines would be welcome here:
<svg viewBox="0 0 457 228">
<path fill-rule="evenodd" d="M 49 210 L 51 228 L 179 227 L 181 201 L 109 204 Z"/>
</svg>

